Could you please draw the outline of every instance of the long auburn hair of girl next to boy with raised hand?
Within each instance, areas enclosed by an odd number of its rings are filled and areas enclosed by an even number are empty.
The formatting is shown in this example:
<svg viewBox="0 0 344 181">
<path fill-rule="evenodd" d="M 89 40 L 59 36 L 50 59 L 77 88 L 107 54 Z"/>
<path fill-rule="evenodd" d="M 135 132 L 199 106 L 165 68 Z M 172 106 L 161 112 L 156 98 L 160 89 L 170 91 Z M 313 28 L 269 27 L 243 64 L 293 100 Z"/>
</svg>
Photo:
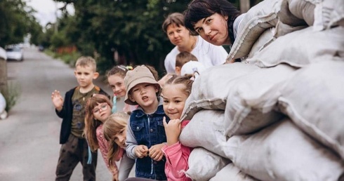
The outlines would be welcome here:
<svg viewBox="0 0 344 181">
<path fill-rule="evenodd" d="M 102 122 L 94 119 L 93 109 L 98 104 L 103 103 L 103 102 L 106 102 L 112 108 L 112 102 L 110 102 L 109 98 L 107 98 L 106 95 L 102 95 L 102 94 L 93 95 L 92 98 L 88 98 L 87 103 L 86 103 L 84 134 L 88 142 L 88 145 L 90 146 L 93 152 L 95 152 L 95 150 L 99 148 L 97 134 L 95 133 L 95 131 L 97 130 L 98 126 L 102 124 Z"/>
</svg>

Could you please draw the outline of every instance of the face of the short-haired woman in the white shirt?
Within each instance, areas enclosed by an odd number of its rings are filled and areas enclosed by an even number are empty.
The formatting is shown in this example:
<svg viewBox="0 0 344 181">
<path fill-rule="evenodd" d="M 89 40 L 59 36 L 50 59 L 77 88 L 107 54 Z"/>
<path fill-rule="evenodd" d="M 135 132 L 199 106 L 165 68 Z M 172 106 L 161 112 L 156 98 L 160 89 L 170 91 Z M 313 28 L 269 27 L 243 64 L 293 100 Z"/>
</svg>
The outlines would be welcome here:
<svg viewBox="0 0 344 181">
<path fill-rule="evenodd" d="M 190 34 L 185 27 L 178 27 L 175 24 L 168 25 L 166 34 L 171 43 L 175 46 L 186 46 L 189 43 Z"/>
</svg>

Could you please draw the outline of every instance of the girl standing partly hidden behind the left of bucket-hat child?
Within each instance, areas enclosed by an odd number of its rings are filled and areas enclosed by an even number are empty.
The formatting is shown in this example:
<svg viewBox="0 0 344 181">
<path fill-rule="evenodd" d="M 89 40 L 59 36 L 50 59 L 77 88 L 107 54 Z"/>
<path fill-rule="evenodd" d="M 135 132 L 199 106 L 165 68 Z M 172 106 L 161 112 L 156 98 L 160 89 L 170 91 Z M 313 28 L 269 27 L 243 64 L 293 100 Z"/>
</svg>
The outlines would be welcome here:
<svg viewBox="0 0 344 181">
<path fill-rule="evenodd" d="M 117 106 L 117 103 L 121 100 L 121 98 L 124 98 L 124 96 L 126 95 L 126 85 L 124 85 L 124 77 L 126 76 L 126 72 L 128 72 L 128 70 L 130 69 L 133 69 L 133 67 L 117 65 L 115 67 L 112 67 L 112 69 L 110 69 L 107 72 L 107 82 L 109 83 L 112 91 L 114 92 L 114 97 L 112 99 L 112 113 L 117 112 L 117 108 L 119 108 Z M 136 109 L 136 107 L 137 106 L 128 105 L 124 103 L 122 111 L 132 112 Z"/>
</svg>

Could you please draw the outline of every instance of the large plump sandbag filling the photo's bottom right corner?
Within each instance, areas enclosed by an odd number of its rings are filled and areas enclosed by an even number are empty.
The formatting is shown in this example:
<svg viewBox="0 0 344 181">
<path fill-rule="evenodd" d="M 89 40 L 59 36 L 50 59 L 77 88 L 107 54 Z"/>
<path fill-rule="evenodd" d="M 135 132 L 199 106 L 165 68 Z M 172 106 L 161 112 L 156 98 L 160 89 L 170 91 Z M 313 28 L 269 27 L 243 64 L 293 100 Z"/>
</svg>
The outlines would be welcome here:
<svg viewBox="0 0 344 181">
<path fill-rule="evenodd" d="M 284 119 L 252 135 L 229 138 L 227 158 L 258 180 L 338 180 L 343 161 Z"/>
</svg>

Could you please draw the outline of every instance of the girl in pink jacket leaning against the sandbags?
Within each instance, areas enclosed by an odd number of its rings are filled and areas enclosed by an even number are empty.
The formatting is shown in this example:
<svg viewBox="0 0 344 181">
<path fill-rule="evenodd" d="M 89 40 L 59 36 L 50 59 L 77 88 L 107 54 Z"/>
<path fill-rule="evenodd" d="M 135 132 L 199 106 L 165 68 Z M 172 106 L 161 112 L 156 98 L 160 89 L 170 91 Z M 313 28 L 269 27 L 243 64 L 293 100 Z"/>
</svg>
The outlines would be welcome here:
<svg viewBox="0 0 344 181">
<path fill-rule="evenodd" d="M 164 127 L 167 136 L 167 144 L 162 147 L 166 156 L 165 173 L 167 180 L 191 180 L 186 177 L 185 171 L 189 168 L 191 148 L 185 147 L 178 141 L 181 130 L 189 121 L 180 122 L 185 100 L 191 93 L 193 81 L 190 76 L 172 76 L 166 81 L 161 96 L 164 98 L 164 112 L 171 119 Z"/>
</svg>

